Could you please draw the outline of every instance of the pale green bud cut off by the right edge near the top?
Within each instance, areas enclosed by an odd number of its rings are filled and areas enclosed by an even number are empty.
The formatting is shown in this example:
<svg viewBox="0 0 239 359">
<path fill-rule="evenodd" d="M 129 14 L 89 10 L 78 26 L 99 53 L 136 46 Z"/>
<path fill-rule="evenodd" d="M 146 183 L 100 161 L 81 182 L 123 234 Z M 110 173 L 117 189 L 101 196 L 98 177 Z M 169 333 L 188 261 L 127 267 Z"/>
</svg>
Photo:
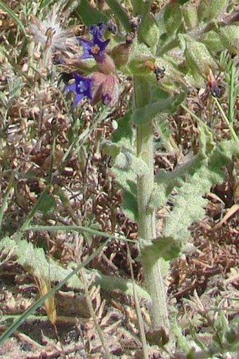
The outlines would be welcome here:
<svg viewBox="0 0 239 359">
<path fill-rule="evenodd" d="M 220 29 L 220 37 L 224 46 L 232 51 L 234 54 L 238 54 L 239 49 L 239 26 L 228 25 Z"/>
</svg>

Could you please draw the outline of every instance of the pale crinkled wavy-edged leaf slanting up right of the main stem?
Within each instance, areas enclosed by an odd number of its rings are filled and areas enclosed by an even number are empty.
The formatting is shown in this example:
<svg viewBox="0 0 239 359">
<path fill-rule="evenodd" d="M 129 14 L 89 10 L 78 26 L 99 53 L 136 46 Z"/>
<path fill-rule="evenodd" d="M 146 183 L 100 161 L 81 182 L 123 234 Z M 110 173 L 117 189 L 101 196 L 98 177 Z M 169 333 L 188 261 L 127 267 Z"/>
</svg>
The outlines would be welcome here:
<svg viewBox="0 0 239 359">
<path fill-rule="evenodd" d="M 211 140 L 209 139 L 209 143 Z M 210 148 L 205 147 L 205 148 Z M 202 151 L 203 152 L 203 151 Z M 202 160 L 202 165 L 193 176 L 186 178 L 185 183 L 172 198 L 173 208 L 165 221 L 163 236 L 172 236 L 175 241 L 186 243 L 190 236 L 188 226 L 194 221 L 200 221 L 205 212 L 207 200 L 202 196 L 212 185 L 224 179 L 222 167 L 232 161 L 233 155 L 238 155 L 239 149 L 234 140 L 225 140 L 209 152 Z M 206 156 L 204 152 L 204 156 Z"/>
</svg>

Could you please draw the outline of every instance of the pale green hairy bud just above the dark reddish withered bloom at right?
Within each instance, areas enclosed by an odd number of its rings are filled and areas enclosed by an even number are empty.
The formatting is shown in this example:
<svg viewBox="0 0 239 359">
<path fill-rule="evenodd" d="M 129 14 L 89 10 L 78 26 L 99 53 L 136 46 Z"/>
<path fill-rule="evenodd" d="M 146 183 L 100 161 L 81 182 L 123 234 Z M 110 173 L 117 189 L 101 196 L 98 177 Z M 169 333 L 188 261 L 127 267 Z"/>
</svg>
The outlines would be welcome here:
<svg viewBox="0 0 239 359">
<path fill-rule="evenodd" d="M 190 39 L 189 37 L 185 38 L 186 60 L 188 62 L 188 66 L 190 66 L 193 72 L 199 72 L 200 74 L 207 75 L 209 73 L 209 68 L 216 69 L 218 67 L 205 44 Z"/>
</svg>

